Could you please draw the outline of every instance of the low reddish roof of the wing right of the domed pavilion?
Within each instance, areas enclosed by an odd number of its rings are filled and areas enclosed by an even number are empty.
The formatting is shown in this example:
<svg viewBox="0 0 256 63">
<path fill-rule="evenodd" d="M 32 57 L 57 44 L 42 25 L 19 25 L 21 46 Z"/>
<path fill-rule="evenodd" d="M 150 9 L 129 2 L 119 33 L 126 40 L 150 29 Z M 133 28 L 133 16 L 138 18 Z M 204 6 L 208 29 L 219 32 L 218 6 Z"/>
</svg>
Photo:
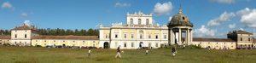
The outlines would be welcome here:
<svg viewBox="0 0 256 63">
<path fill-rule="evenodd" d="M 230 38 L 193 38 L 193 41 L 199 42 L 236 42 Z"/>
</svg>

